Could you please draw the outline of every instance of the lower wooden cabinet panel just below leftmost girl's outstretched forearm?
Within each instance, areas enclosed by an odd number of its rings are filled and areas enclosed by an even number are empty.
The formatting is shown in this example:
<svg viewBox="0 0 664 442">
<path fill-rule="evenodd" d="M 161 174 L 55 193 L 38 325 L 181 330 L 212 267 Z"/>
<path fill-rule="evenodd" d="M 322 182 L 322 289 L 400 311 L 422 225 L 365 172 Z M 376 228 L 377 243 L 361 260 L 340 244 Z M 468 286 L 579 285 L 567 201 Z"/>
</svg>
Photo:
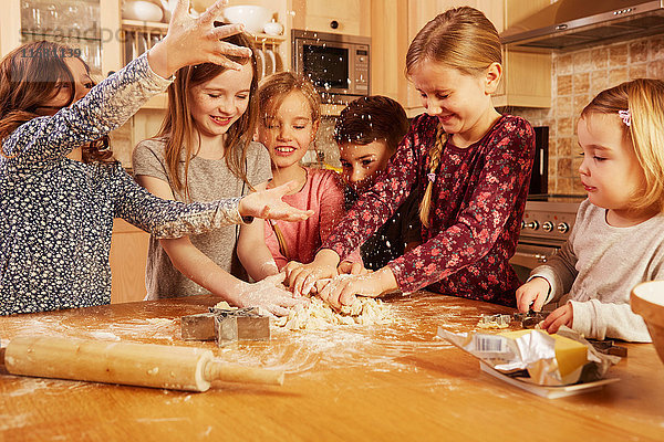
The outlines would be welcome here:
<svg viewBox="0 0 664 442">
<path fill-rule="evenodd" d="M 149 234 L 121 218 L 113 221 L 111 239 L 111 303 L 145 297 L 145 265 Z"/>
</svg>

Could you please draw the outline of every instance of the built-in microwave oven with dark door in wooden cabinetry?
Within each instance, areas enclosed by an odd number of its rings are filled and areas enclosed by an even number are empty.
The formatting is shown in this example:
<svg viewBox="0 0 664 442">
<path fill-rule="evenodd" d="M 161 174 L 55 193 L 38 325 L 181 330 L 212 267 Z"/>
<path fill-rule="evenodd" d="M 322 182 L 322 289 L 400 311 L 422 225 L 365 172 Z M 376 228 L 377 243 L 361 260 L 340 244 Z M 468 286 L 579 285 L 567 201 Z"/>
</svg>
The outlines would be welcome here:
<svg viewBox="0 0 664 442">
<path fill-rule="evenodd" d="M 311 80 L 323 103 L 369 95 L 371 39 L 293 29 L 293 69 Z"/>
</svg>

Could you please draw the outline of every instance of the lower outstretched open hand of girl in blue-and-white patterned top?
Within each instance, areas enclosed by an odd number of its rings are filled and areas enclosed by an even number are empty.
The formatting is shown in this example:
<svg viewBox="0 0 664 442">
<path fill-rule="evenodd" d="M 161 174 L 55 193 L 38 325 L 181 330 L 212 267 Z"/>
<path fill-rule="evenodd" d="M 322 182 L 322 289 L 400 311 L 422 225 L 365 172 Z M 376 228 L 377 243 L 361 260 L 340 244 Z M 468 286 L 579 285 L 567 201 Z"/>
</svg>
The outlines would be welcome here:
<svg viewBox="0 0 664 442">
<path fill-rule="evenodd" d="M 242 217 L 256 217 L 282 221 L 304 221 L 313 214 L 313 210 L 300 210 L 287 204 L 281 198 L 298 188 L 297 181 L 273 189 L 250 193 L 240 200 L 238 210 Z"/>
</svg>

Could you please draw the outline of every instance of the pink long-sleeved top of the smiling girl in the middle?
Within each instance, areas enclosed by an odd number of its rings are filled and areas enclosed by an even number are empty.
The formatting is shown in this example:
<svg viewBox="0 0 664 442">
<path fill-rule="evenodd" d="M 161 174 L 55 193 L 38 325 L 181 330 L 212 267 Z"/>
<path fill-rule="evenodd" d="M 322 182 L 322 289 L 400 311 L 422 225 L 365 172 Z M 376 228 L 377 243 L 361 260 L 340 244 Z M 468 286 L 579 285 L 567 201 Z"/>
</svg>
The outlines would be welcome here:
<svg viewBox="0 0 664 442">
<path fill-rule="evenodd" d="M 343 183 L 339 175 L 332 170 L 307 168 L 304 187 L 298 193 L 283 197 L 283 201 L 298 209 L 311 209 L 314 213 L 300 222 L 266 221 L 266 244 L 279 270 L 289 261 L 304 264 L 312 262 L 322 242 L 345 215 Z M 288 248 L 288 256 L 280 251 L 279 241 L 270 222 L 281 231 Z M 347 261 L 362 262 L 360 251 L 354 250 Z"/>
</svg>

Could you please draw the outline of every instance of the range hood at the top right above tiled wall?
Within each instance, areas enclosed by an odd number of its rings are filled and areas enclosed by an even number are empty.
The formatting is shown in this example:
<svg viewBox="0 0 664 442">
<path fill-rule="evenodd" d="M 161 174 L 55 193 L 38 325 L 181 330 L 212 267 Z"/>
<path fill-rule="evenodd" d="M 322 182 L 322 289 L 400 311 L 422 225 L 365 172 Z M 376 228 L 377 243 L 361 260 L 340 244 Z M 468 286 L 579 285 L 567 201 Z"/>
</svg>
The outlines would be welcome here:
<svg viewBox="0 0 664 442">
<path fill-rule="evenodd" d="M 664 0 L 558 0 L 500 34 L 508 48 L 551 51 L 664 33 Z"/>
</svg>

